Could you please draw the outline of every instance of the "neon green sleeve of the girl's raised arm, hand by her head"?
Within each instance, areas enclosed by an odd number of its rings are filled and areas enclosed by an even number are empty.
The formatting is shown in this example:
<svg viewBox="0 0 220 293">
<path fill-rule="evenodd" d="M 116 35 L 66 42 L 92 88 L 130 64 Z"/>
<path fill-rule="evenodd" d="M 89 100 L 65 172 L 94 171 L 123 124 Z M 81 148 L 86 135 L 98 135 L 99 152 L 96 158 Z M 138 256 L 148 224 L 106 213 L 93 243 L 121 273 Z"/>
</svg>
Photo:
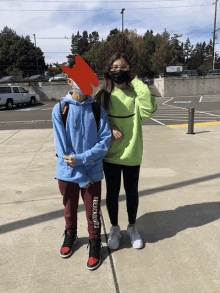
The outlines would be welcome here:
<svg viewBox="0 0 220 293">
<path fill-rule="evenodd" d="M 157 111 L 156 99 L 151 95 L 151 92 L 146 84 L 137 78 L 131 81 L 134 91 L 137 94 L 137 104 L 142 121 L 147 121 L 152 118 Z"/>
</svg>

